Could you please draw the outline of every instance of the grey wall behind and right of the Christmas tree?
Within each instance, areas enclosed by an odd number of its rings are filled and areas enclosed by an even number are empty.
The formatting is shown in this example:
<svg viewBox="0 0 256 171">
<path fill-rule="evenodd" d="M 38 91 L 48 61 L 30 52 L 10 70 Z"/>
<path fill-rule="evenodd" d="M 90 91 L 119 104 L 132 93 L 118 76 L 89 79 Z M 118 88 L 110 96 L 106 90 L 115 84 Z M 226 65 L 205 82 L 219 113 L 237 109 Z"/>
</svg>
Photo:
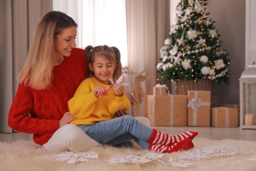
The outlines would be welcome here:
<svg viewBox="0 0 256 171">
<path fill-rule="evenodd" d="M 171 24 L 181 0 L 170 0 Z M 216 103 L 239 104 L 239 78 L 245 69 L 245 1 L 208 1 L 209 16 L 220 34 L 224 49 L 230 54 L 230 85 L 216 84 Z"/>
</svg>

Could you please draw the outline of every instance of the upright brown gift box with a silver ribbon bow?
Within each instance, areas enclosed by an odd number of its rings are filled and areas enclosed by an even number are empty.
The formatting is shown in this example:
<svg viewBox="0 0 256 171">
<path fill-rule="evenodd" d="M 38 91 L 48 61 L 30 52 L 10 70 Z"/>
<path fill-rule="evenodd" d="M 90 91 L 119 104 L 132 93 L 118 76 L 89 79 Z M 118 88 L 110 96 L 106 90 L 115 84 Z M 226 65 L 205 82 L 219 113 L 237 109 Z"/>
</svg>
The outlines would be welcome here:
<svg viewBox="0 0 256 171">
<path fill-rule="evenodd" d="M 210 126 L 210 91 L 188 91 L 188 126 Z"/>
</svg>

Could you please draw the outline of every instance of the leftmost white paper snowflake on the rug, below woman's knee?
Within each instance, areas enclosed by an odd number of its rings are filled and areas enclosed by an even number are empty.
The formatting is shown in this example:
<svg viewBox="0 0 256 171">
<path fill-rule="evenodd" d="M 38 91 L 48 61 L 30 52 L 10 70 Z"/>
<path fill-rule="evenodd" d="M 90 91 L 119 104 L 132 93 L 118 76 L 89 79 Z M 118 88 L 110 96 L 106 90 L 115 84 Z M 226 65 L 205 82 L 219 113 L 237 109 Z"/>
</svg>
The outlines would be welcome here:
<svg viewBox="0 0 256 171">
<path fill-rule="evenodd" d="M 91 159 L 98 159 L 98 153 L 73 153 L 65 151 L 56 155 L 56 160 L 65 162 L 67 164 L 75 164 L 76 162 L 87 162 Z"/>
</svg>

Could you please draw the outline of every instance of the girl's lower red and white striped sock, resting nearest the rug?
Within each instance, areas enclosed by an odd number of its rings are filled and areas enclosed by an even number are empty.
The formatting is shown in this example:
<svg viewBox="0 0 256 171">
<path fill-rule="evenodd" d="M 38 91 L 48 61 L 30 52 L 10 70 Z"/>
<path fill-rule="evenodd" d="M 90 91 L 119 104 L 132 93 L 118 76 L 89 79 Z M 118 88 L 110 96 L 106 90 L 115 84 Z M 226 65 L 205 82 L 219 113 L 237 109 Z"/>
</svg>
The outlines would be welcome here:
<svg viewBox="0 0 256 171">
<path fill-rule="evenodd" d="M 151 144 L 148 147 L 148 150 L 154 151 L 155 153 L 173 153 L 177 151 L 186 151 L 192 149 L 194 144 L 192 140 L 187 138 L 174 143 L 173 145 L 163 145 L 163 144 Z"/>
</svg>

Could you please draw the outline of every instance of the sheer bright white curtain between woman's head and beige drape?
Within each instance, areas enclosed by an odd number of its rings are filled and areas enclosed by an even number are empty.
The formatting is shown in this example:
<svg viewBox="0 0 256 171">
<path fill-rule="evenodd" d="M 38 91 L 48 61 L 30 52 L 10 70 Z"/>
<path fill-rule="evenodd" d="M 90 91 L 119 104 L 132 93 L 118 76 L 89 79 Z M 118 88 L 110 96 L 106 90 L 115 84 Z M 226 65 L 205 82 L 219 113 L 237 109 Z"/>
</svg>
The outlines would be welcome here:
<svg viewBox="0 0 256 171">
<path fill-rule="evenodd" d="M 54 0 L 53 9 L 71 16 L 78 24 L 77 47 L 118 47 L 127 65 L 125 0 Z"/>
</svg>

